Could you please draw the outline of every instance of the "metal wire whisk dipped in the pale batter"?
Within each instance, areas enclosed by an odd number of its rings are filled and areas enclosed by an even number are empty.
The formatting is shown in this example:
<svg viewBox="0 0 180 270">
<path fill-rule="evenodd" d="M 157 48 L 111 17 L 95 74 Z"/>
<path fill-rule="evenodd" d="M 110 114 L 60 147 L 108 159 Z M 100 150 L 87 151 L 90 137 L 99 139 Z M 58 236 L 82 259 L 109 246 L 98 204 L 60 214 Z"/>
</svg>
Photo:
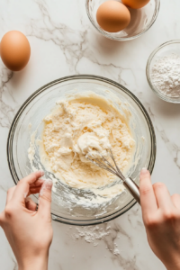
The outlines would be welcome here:
<svg viewBox="0 0 180 270">
<path fill-rule="evenodd" d="M 94 151 L 98 153 L 99 158 L 94 157 L 94 155 L 91 153 L 88 153 L 86 155 L 86 158 L 88 158 L 94 165 L 102 167 L 104 170 L 112 173 L 113 175 L 118 176 L 121 179 L 123 185 L 130 192 L 130 194 L 140 204 L 139 186 L 131 178 L 125 178 L 124 175 L 122 175 L 121 170 L 117 166 L 115 159 L 112 155 L 112 150 L 109 149 L 108 156 L 112 158 L 114 166 L 112 166 L 112 164 L 107 160 L 107 158 L 103 157 L 103 155 L 98 150 L 94 150 Z"/>
</svg>

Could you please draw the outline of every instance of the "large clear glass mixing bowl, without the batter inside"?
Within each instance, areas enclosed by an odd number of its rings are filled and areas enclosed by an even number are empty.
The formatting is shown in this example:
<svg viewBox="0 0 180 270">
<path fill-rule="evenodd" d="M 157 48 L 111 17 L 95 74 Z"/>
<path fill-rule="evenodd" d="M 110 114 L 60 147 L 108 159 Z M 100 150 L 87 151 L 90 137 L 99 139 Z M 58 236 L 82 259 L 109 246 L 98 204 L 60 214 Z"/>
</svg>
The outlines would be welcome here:
<svg viewBox="0 0 180 270">
<path fill-rule="evenodd" d="M 67 76 L 44 85 L 31 94 L 14 117 L 7 141 L 7 158 L 15 184 L 31 173 L 28 148 L 31 134 L 37 130 L 35 137 L 38 139 L 41 135 L 42 119 L 51 112 L 57 100 L 66 99 L 67 95 L 75 93 L 85 94 L 86 91 L 110 99 L 120 112 L 122 107 L 117 101 L 121 100 L 124 108 L 127 107 L 131 113 L 129 125 L 136 148 L 127 176 L 130 175 L 139 184 L 142 167 L 147 167 L 152 172 L 156 158 L 156 137 L 148 112 L 138 98 L 125 87 L 100 76 Z M 40 164 L 38 148 L 35 150 L 35 157 L 33 166 L 43 169 L 46 178 L 54 178 L 55 175 Z M 52 191 L 52 219 L 73 225 L 93 225 L 120 216 L 136 203 L 127 191 L 102 203 L 97 203 L 95 196 L 89 190 L 72 188 L 58 180 L 56 190 Z M 32 199 L 38 203 L 38 195 L 33 195 Z"/>
</svg>

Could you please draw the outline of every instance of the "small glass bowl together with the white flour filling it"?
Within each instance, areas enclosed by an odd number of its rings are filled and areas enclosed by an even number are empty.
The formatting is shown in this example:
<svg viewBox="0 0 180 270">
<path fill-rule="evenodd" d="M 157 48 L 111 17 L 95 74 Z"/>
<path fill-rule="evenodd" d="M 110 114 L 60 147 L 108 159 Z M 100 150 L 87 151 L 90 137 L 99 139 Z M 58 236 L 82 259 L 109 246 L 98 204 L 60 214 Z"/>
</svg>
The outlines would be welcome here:
<svg viewBox="0 0 180 270">
<path fill-rule="evenodd" d="M 169 67 L 168 67 L 169 72 L 167 73 L 164 72 L 164 67 L 163 67 L 163 65 L 165 64 L 167 66 L 167 62 L 159 63 L 159 61 L 162 60 L 163 58 L 170 59 Z M 177 58 L 177 62 L 175 60 L 175 63 L 177 65 L 176 66 L 177 68 L 175 68 L 175 73 L 177 73 L 176 76 L 179 78 L 178 69 L 180 70 L 180 40 L 167 41 L 166 43 L 163 43 L 162 45 L 157 47 L 157 49 L 154 49 L 148 58 L 146 74 L 147 74 L 147 79 L 148 79 L 148 85 L 153 90 L 153 92 L 157 94 L 159 98 L 161 98 L 162 100 L 168 103 L 180 103 L 180 80 L 176 86 L 175 85 L 173 87 L 171 86 L 172 85 L 171 81 L 175 83 L 175 74 L 172 73 L 172 68 L 175 67 L 173 65 L 173 58 Z M 155 76 L 153 78 L 153 73 L 156 72 L 156 70 L 153 71 L 153 67 L 155 67 L 156 64 L 159 65 L 159 68 L 157 70 L 158 74 L 155 74 L 156 77 L 158 76 L 158 78 L 156 78 L 157 83 L 155 85 L 155 83 L 153 83 L 153 80 L 155 79 Z M 170 73 L 172 73 L 172 77 Z M 169 76 L 170 80 L 167 80 L 165 82 L 165 79 L 163 78 L 164 76 Z M 166 89 L 163 89 L 162 85 L 159 85 L 161 84 L 161 81 L 163 85 L 165 85 L 166 83 L 166 87 L 167 88 L 169 87 L 169 91 L 168 91 L 169 94 L 166 94 Z M 172 94 L 170 93 L 171 91 L 172 91 Z"/>
</svg>

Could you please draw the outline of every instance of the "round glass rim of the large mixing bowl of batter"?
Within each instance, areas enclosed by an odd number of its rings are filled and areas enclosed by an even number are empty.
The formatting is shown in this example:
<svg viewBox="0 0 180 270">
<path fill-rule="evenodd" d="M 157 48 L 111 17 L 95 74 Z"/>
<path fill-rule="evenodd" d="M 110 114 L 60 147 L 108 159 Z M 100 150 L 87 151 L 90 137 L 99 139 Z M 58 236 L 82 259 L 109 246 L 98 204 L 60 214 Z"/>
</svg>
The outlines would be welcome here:
<svg viewBox="0 0 180 270">
<path fill-rule="evenodd" d="M 130 90 L 128 90 L 127 88 L 125 88 L 121 84 L 119 84 L 115 81 L 112 81 L 109 78 L 105 78 L 103 76 L 94 76 L 94 75 L 73 75 L 73 76 L 64 76 L 64 77 L 58 78 L 57 80 L 49 82 L 49 84 L 41 86 L 38 90 L 36 90 L 33 94 L 31 94 L 26 99 L 26 101 L 20 107 L 18 112 L 16 112 L 16 114 L 14 116 L 14 120 L 13 120 L 12 125 L 11 125 L 11 128 L 10 128 L 9 133 L 8 133 L 7 145 L 6 145 L 7 162 L 8 162 L 10 173 L 11 173 L 13 180 L 14 180 L 14 184 L 17 184 L 20 181 L 20 179 L 16 173 L 16 170 L 15 170 L 14 158 L 13 158 L 14 131 L 16 129 L 17 123 L 21 117 L 23 110 L 26 108 L 26 106 L 29 103 L 31 103 L 31 100 L 33 100 L 40 93 L 44 92 L 50 86 L 57 85 L 59 83 L 65 82 L 65 81 L 76 80 L 76 79 L 92 79 L 92 80 L 105 82 L 107 84 L 113 85 L 113 86 L 119 88 L 120 91 L 123 91 L 125 94 L 128 94 L 130 96 L 130 98 L 132 98 L 132 100 L 139 106 L 139 109 L 141 110 L 141 112 L 143 113 L 143 115 L 147 121 L 148 130 L 149 130 L 150 138 L 151 138 L 151 146 L 152 147 L 151 147 L 151 152 L 150 152 L 148 170 L 149 170 L 150 174 L 152 173 L 154 165 L 155 165 L 156 154 L 157 154 L 156 134 L 155 134 L 155 130 L 154 130 L 152 121 L 148 115 L 148 112 L 146 111 L 146 109 L 144 108 L 142 103 L 140 103 L 139 99 L 134 94 L 132 94 L 130 92 Z M 103 222 L 107 222 L 109 220 L 113 220 L 113 219 L 121 216 L 121 214 L 123 214 L 124 212 L 130 210 L 130 208 L 136 203 L 137 203 L 136 200 L 132 199 L 128 204 L 126 204 L 123 208 L 121 208 L 121 210 L 115 211 L 115 212 L 113 212 L 105 217 L 95 218 L 94 220 L 73 220 L 73 218 L 67 219 L 67 218 L 60 217 L 60 216 L 53 214 L 53 213 L 51 213 L 51 217 L 52 217 L 52 220 L 56 220 L 56 221 L 59 221 L 61 223 L 65 223 L 68 225 L 89 226 L 89 225 L 100 224 Z"/>
</svg>

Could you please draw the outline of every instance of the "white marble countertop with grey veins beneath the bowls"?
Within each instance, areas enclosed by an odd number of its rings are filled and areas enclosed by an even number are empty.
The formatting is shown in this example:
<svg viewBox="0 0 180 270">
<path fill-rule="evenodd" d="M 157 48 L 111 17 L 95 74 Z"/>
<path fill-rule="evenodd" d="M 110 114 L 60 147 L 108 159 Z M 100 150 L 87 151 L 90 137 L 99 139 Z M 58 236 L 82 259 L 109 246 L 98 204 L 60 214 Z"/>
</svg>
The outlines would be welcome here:
<svg viewBox="0 0 180 270">
<path fill-rule="evenodd" d="M 116 42 L 94 30 L 85 14 L 85 0 L 0 1 L 0 38 L 6 31 L 19 30 L 31 43 L 31 60 L 23 71 L 13 74 L 0 60 L 0 211 L 7 189 L 14 185 L 6 161 L 6 139 L 14 113 L 41 85 L 73 74 L 109 77 L 139 97 L 157 134 L 153 182 L 163 181 L 171 193 L 180 192 L 180 105 L 159 100 L 145 75 L 150 52 L 179 38 L 179 11 L 179 0 L 163 0 L 157 22 L 147 33 L 137 40 Z M 111 227 L 111 234 L 94 247 L 84 238 L 72 238 L 76 228 L 53 222 L 49 269 L 165 269 L 148 247 L 138 205 L 113 220 Z M 115 243 L 119 255 L 113 254 Z M 17 269 L 2 229 L 0 267 Z"/>
</svg>

